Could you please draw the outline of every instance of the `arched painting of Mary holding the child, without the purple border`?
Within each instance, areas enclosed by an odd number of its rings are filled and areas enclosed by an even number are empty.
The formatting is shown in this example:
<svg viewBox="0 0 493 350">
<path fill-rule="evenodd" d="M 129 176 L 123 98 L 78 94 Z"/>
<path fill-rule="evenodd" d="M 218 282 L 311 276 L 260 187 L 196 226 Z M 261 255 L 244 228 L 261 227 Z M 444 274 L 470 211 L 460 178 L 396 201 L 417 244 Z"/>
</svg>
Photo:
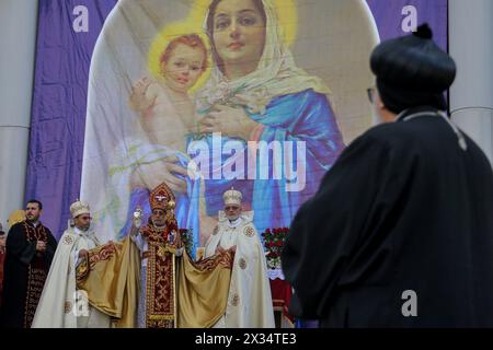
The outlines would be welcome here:
<svg viewBox="0 0 493 350">
<path fill-rule="evenodd" d="M 195 247 L 231 187 L 259 232 L 288 226 L 371 126 L 377 43 L 363 0 L 118 1 L 91 65 L 82 164 L 102 241 L 128 234 L 138 206 L 149 215 L 161 182 Z"/>
</svg>

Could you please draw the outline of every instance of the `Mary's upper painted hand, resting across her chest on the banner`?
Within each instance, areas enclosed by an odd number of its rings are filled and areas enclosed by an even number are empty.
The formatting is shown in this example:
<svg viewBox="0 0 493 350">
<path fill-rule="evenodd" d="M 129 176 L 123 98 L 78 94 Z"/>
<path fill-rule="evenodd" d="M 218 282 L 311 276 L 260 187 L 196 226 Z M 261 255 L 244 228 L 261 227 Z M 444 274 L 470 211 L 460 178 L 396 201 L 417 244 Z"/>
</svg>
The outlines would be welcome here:
<svg viewBox="0 0 493 350">
<path fill-rule="evenodd" d="M 249 141 L 253 129 L 259 122 L 246 115 L 243 108 L 216 105 L 198 126 L 199 132 L 221 132 L 225 136 L 238 137 Z"/>
</svg>

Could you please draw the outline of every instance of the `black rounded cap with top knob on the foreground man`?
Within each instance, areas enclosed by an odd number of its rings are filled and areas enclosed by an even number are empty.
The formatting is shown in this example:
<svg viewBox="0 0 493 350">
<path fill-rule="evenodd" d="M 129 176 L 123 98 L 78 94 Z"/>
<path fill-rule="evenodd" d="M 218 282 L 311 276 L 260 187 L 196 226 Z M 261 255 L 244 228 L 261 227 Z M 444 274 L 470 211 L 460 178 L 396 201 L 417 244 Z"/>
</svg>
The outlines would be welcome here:
<svg viewBox="0 0 493 350">
<path fill-rule="evenodd" d="M 446 109 L 443 92 L 456 78 L 456 63 L 435 44 L 427 24 L 382 42 L 371 54 L 370 67 L 380 98 L 391 112 L 424 105 Z"/>
</svg>

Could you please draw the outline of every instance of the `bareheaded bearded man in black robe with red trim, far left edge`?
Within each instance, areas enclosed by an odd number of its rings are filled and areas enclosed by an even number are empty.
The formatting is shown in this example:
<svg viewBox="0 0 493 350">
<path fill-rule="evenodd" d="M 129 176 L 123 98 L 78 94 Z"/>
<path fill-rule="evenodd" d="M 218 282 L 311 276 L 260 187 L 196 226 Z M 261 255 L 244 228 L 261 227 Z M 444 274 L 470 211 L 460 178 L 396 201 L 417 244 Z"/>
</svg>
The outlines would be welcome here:
<svg viewBox="0 0 493 350">
<path fill-rule="evenodd" d="M 2 326 L 30 328 L 57 248 L 51 232 L 39 222 L 43 205 L 30 200 L 26 220 L 7 235 Z"/>
</svg>

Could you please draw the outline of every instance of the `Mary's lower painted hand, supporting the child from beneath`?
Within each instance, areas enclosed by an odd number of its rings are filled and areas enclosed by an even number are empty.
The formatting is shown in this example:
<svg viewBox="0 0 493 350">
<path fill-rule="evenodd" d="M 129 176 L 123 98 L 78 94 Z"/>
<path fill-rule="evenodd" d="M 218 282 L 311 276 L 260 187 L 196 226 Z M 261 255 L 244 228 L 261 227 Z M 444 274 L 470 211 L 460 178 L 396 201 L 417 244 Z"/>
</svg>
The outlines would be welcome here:
<svg viewBox="0 0 493 350">
<path fill-rule="evenodd" d="M 186 192 L 186 182 L 175 174 L 187 176 L 187 172 L 186 168 L 176 165 L 176 156 L 168 156 L 161 162 L 140 164 L 131 175 L 133 188 L 145 187 L 152 190 L 162 183 L 167 183 L 173 192 Z"/>
</svg>

